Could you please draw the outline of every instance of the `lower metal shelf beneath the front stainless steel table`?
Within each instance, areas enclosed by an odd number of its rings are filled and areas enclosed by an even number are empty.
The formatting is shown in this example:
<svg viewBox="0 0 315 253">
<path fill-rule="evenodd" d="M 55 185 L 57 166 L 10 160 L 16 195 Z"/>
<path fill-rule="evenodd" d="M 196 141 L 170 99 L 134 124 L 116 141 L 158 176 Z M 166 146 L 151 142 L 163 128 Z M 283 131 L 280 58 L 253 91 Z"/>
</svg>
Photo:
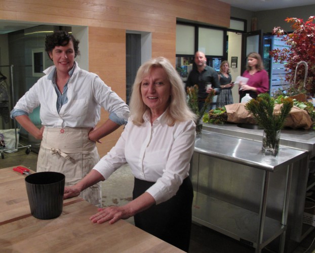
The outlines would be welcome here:
<svg viewBox="0 0 315 253">
<path fill-rule="evenodd" d="M 194 192 L 192 220 L 257 248 L 259 214 L 208 195 Z M 265 217 L 261 247 L 286 230 L 280 221 Z"/>
</svg>

